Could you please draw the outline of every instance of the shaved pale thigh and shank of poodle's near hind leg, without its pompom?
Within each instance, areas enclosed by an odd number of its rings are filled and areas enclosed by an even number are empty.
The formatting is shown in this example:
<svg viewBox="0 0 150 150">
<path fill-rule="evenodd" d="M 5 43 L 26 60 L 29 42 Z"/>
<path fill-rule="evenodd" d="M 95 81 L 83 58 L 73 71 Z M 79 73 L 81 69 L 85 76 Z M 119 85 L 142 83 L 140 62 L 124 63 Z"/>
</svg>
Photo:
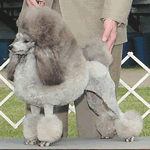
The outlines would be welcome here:
<svg viewBox="0 0 150 150">
<path fill-rule="evenodd" d="M 92 91 L 101 97 L 112 114 L 114 114 L 116 118 L 120 118 L 123 113 L 117 103 L 115 84 L 110 77 L 109 69 L 96 61 L 87 62 L 87 67 L 90 73 L 90 79 L 86 90 Z"/>
</svg>

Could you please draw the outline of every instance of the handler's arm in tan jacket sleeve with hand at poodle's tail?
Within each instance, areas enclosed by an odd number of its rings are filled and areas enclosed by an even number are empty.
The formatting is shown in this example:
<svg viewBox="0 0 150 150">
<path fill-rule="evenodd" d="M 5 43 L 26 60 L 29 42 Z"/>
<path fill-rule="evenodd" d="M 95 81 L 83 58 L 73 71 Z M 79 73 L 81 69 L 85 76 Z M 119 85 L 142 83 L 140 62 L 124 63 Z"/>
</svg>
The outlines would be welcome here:
<svg viewBox="0 0 150 150">
<path fill-rule="evenodd" d="M 117 38 L 117 23 L 126 28 L 127 18 L 130 12 L 132 0 L 105 0 L 102 12 L 104 21 L 104 33 L 102 40 L 107 43 L 111 52 Z"/>
</svg>

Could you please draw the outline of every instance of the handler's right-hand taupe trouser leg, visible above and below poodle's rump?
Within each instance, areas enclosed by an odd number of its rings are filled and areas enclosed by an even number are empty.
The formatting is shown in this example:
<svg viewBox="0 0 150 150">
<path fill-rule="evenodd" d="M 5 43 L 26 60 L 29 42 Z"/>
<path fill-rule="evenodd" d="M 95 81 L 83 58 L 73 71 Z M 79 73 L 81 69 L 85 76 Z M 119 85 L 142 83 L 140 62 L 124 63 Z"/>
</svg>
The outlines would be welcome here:
<svg viewBox="0 0 150 150">
<path fill-rule="evenodd" d="M 110 66 L 110 74 L 111 74 L 112 79 L 115 82 L 116 93 L 117 93 L 118 83 L 119 83 L 119 78 L 120 78 L 122 45 L 114 46 L 112 50 L 112 55 L 113 55 L 113 63 Z M 87 101 L 86 101 L 85 94 L 75 101 L 75 106 L 76 106 L 78 136 L 82 138 L 100 137 L 99 133 L 96 130 L 96 125 L 95 125 L 98 117 L 89 108 Z"/>
</svg>

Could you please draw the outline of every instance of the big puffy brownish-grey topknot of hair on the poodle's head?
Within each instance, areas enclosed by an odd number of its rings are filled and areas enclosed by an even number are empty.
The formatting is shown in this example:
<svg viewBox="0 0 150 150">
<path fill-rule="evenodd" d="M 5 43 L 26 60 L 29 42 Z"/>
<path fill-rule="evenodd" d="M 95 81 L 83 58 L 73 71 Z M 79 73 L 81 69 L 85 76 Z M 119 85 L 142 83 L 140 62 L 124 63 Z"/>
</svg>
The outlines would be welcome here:
<svg viewBox="0 0 150 150">
<path fill-rule="evenodd" d="M 65 25 L 61 16 L 49 7 L 27 7 L 19 16 L 17 25 L 24 29 L 39 47 L 51 48 L 58 45 L 60 39 L 64 39 Z"/>
</svg>

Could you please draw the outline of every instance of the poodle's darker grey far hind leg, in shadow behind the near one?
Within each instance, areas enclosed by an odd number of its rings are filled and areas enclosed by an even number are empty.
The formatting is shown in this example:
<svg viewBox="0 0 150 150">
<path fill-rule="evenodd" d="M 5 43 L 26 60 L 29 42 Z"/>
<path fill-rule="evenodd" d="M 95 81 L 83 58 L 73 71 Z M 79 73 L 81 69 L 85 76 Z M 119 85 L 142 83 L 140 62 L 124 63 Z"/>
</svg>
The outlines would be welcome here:
<svg viewBox="0 0 150 150">
<path fill-rule="evenodd" d="M 86 92 L 87 101 L 91 109 L 98 115 L 96 120 L 96 129 L 103 139 L 113 138 L 117 133 L 114 126 L 114 118 L 110 114 L 111 112 L 103 102 L 103 100 L 98 97 L 93 92 Z"/>
</svg>

